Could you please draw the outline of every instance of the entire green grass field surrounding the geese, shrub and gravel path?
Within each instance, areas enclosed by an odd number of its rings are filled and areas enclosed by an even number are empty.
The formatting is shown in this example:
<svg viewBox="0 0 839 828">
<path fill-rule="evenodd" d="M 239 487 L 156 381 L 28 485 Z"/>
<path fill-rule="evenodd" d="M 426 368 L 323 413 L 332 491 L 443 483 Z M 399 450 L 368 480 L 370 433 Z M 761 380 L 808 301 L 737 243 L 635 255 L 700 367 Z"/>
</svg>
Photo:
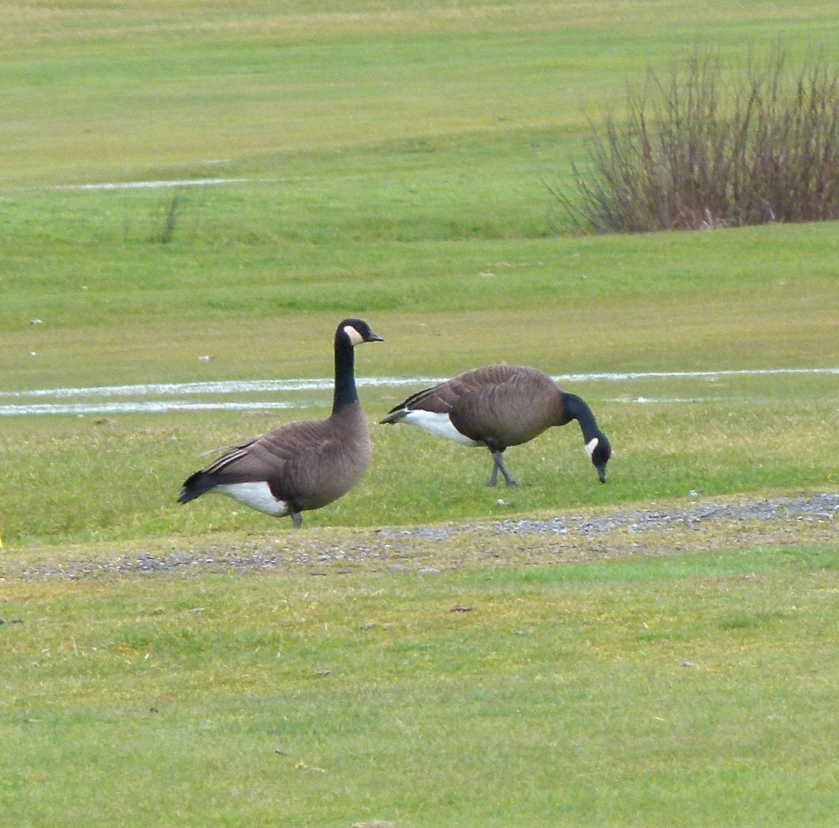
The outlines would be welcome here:
<svg viewBox="0 0 839 828">
<path fill-rule="evenodd" d="M 174 501 L 326 391 L 0 417 L 0 825 L 834 824 L 832 524 L 575 565 L 513 538 L 326 576 L 20 575 L 836 491 L 836 374 L 792 372 L 839 367 L 836 227 L 571 237 L 545 186 L 648 66 L 839 57 L 830 3 L 0 8 L 0 408 L 328 378 L 346 315 L 385 338 L 358 376 L 408 381 L 362 386 L 371 421 L 489 362 L 646 375 L 564 383 L 615 447 L 605 487 L 573 424 L 508 452 L 515 492 L 486 452 L 373 428 L 364 481 L 296 534 Z M 195 179 L 227 182 L 79 189 Z"/>
</svg>

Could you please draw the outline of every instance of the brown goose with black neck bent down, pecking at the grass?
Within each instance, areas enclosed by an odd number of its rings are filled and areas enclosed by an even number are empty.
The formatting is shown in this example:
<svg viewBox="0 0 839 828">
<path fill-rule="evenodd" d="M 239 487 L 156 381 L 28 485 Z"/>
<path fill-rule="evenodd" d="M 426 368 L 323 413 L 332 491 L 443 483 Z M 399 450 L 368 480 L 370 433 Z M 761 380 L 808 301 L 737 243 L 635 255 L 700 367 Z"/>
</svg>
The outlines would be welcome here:
<svg viewBox="0 0 839 828">
<path fill-rule="evenodd" d="M 612 456 L 607 436 L 597 427 L 591 409 L 575 394 L 565 393 L 535 368 L 491 365 L 476 368 L 413 394 L 388 412 L 382 423 L 411 423 L 461 445 L 485 445 L 492 452 L 488 486 L 498 471 L 515 486 L 504 466 L 503 451 L 540 435 L 551 425 L 580 424 L 586 454 L 606 482 Z"/>
</svg>

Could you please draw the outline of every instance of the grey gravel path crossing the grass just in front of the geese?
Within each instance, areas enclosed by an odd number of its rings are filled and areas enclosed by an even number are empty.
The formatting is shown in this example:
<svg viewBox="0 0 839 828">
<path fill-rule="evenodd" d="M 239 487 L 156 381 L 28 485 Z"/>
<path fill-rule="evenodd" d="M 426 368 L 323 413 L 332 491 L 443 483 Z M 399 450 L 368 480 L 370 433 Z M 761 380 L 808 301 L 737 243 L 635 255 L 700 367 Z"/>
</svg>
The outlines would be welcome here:
<svg viewBox="0 0 839 828">
<path fill-rule="evenodd" d="M 673 508 L 612 510 L 550 519 L 518 518 L 447 523 L 411 529 L 312 529 L 285 527 L 231 544 L 178 547 L 148 554 L 88 560 L 6 560 L 5 578 L 96 578 L 236 571 L 344 574 L 360 567 L 393 573 L 432 574 L 466 566 L 555 564 L 627 555 L 732 546 L 825 544 L 839 540 L 839 493 L 738 501 L 694 501 Z M 44 553 L 49 555 L 49 553 Z M 69 553 L 71 556 L 71 551 Z M 67 553 L 65 553 L 65 558 Z"/>
</svg>

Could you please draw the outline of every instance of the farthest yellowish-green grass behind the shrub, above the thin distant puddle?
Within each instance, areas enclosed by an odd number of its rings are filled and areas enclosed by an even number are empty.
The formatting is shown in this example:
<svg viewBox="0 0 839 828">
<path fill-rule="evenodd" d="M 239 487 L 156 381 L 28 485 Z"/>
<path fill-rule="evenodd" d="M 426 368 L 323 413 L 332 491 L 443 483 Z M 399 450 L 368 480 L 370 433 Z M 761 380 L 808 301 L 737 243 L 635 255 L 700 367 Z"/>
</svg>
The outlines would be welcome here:
<svg viewBox="0 0 839 828">
<path fill-rule="evenodd" d="M 585 127 L 696 44 L 831 43 L 821 3 L 10 4 L 11 182 L 263 166 L 285 152 Z M 8 94 L 6 94 L 8 93 Z M 33 112 L 50 112 L 44 121 Z M 282 166 L 282 161 L 280 161 Z"/>
</svg>

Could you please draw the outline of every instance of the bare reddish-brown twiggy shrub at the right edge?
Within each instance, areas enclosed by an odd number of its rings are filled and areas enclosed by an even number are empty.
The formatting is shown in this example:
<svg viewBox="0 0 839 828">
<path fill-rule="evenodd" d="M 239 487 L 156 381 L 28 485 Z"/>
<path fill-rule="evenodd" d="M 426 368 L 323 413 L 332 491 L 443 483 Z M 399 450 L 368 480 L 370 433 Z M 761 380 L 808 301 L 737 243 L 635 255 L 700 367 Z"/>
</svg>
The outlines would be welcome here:
<svg viewBox="0 0 839 828">
<path fill-rule="evenodd" d="M 607 112 L 571 195 L 582 232 L 650 232 L 839 218 L 839 75 L 823 55 L 789 79 L 783 49 L 726 83 L 716 55 L 663 81 L 648 70 Z"/>
</svg>

